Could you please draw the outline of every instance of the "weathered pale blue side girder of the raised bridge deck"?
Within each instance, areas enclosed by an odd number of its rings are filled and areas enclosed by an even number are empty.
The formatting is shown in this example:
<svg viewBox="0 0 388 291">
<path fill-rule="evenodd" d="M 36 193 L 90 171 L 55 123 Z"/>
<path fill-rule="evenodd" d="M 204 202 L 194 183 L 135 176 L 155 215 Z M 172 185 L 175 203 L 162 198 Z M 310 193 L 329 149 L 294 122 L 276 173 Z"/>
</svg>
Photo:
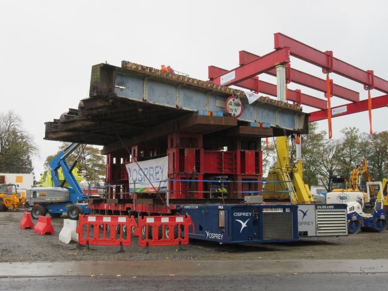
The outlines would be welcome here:
<svg viewBox="0 0 388 291">
<path fill-rule="evenodd" d="M 248 104 L 240 90 L 125 61 L 122 67 L 100 64 L 92 68 L 90 97 L 109 94 L 188 112 L 224 113 L 226 99 L 237 95 L 243 103 L 241 121 L 293 131 L 307 129 L 306 114 L 300 107 L 268 98 Z"/>
</svg>

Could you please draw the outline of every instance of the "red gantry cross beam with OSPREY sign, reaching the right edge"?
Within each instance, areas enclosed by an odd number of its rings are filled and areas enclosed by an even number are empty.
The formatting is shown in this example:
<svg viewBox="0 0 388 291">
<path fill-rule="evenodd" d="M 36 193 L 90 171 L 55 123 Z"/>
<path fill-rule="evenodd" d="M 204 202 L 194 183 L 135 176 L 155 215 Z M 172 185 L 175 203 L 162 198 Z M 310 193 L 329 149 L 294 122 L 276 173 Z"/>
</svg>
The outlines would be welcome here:
<svg viewBox="0 0 388 291">
<path fill-rule="evenodd" d="M 388 106 L 388 95 L 372 98 L 372 109 Z M 368 99 L 331 108 L 331 117 L 338 117 L 368 110 Z M 308 122 L 327 119 L 327 110 L 310 113 Z"/>
</svg>

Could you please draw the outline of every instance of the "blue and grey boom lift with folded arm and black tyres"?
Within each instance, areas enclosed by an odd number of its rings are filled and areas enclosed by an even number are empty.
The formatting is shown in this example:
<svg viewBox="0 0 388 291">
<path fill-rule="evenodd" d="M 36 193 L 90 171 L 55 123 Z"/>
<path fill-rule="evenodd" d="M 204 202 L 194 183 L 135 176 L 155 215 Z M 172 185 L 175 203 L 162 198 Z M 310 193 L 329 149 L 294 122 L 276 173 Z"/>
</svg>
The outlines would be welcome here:
<svg viewBox="0 0 388 291">
<path fill-rule="evenodd" d="M 32 218 L 37 219 L 40 215 L 46 216 L 47 213 L 52 217 L 59 217 L 63 213 L 67 213 L 68 218 L 78 220 L 80 214 L 90 213 L 88 204 L 83 203 L 83 200 L 87 199 L 87 195 L 83 193 L 72 173 L 77 160 L 71 167 L 66 162 L 66 158 L 79 146 L 81 144 L 70 144 L 49 162 L 54 187 L 33 187 L 27 190 L 27 199 L 29 203 L 33 204 Z M 59 179 L 59 168 L 62 168 L 65 178 L 63 182 Z M 65 182 L 70 187 L 65 187 Z"/>
</svg>

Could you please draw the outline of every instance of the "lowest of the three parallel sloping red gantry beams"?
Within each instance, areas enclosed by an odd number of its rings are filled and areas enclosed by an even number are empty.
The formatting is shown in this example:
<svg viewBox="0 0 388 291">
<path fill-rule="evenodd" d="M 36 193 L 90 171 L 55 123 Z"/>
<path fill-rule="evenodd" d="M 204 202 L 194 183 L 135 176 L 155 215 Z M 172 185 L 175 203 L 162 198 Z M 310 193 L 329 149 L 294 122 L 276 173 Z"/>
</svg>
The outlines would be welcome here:
<svg viewBox="0 0 388 291">
<path fill-rule="evenodd" d="M 212 80 L 213 78 L 223 75 L 227 73 L 228 71 L 226 69 L 222 69 L 213 65 L 209 66 L 209 78 Z M 249 78 L 244 81 L 240 81 L 236 83 L 236 86 L 248 89 L 248 90 L 253 90 L 256 91 L 258 86 L 257 82 L 259 81 L 259 92 L 262 92 L 263 94 L 267 94 L 270 96 L 275 96 L 276 97 L 276 85 L 265 82 L 265 81 L 260 81 L 258 78 Z M 311 106 L 317 109 L 327 109 L 327 102 L 326 100 L 317 98 L 317 97 L 312 97 L 307 94 L 300 93 L 301 97 L 301 103 L 305 104 L 307 106 Z M 299 101 L 299 92 L 296 90 L 288 90 L 288 96 L 287 98 L 291 101 L 298 102 Z"/>
</svg>

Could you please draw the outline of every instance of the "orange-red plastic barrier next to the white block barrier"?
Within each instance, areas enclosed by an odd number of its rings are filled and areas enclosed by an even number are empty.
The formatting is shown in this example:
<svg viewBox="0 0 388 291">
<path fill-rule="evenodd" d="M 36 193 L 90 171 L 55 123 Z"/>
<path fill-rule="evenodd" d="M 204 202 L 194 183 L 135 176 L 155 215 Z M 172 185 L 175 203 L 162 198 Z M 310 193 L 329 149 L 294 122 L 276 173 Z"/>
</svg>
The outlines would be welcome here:
<svg viewBox="0 0 388 291">
<path fill-rule="evenodd" d="M 123 245 L 131 243 L 132 226 L 137 227 L 134 216 L 86 215 L 80 216 L 77 226 L 78 243 L 94 245 Z"/>
</svg>

